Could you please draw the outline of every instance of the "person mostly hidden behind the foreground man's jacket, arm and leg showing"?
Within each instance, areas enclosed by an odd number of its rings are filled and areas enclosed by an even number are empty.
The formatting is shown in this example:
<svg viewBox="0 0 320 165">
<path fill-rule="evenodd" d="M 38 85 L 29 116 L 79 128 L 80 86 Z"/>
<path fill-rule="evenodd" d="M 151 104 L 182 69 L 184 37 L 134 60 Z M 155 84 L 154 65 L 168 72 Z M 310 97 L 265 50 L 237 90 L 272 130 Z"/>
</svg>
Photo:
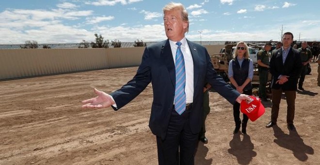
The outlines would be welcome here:
<svg viewBox="0 0 320 165">
<path fill-rule="evenodd" d="M 205 135 L 206 133 L 206 118 L 207 115 L 210 113 L 210 106 L 209 106 L 209 89 L 211 88 L 211 85 L 209 83 L 206 83 L 206 85 L 203 87 L 203 120 L 202 120 L 202 125 L 201 129 L 199 132 L 199 140 L 202 143 L 207 144 L 208 139 Z"/>
</svg>

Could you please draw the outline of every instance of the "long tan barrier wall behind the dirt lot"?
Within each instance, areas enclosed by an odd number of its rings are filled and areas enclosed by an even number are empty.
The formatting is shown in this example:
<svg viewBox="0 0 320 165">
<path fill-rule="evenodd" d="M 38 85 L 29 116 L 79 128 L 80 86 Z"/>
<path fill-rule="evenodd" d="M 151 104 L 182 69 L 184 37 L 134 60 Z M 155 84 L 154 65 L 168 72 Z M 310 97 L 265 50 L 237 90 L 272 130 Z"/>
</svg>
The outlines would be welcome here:
<svg viewBox="0 0 320 165">
<path fill-rule="evenodd" d="M 205 46 L 209 54 L 224 45 Z M 144 47 L 0 49 L 0 81 L 114 67 L 139 66 Z"/>
</svg>

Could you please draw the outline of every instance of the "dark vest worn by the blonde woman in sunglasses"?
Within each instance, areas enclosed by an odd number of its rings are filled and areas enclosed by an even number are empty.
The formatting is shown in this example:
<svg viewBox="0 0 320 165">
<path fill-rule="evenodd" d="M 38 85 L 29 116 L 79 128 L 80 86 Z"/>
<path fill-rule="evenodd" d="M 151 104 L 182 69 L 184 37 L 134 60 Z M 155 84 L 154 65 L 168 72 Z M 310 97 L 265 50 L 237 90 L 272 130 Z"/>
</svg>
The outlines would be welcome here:
<svg viewBox="0 0 320 165">
<path fill-rule="evenodd" d="M 245 80 L 248 78 L 249 74 L 249 64 L 250 61 L 249 59 L 243 59 L 242 65 L 240 67 L 238 58 L 236 57 L 232 61 L 232 70 L 233 70 L 233 78 L 235 81 L 238 83 L 238 85 L 242 85 Z M 232 87 L 235 88 L 235 86 L 232 85 Z M 252 89 L 252 84 L 249 82 L 243 90 L 251 90 Z"/>
</svg>

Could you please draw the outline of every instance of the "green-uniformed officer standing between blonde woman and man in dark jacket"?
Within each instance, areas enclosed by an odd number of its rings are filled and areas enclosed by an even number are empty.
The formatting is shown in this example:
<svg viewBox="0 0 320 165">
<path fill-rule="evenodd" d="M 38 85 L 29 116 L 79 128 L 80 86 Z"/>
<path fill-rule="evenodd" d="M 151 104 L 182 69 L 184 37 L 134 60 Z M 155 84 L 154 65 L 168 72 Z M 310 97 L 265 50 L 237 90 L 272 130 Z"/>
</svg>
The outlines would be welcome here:
<svg viewBox="0 0 320 165">
<path fill-rule="evenodd" d="M 271 43 L 266 43 L 264 48 L 257 54 L 258 72 L 259 72 L 259 97 L 262 101 L 268 101 L 266 86 L 269 72 L 269 51 L 272 48 Z"/>
</svg>

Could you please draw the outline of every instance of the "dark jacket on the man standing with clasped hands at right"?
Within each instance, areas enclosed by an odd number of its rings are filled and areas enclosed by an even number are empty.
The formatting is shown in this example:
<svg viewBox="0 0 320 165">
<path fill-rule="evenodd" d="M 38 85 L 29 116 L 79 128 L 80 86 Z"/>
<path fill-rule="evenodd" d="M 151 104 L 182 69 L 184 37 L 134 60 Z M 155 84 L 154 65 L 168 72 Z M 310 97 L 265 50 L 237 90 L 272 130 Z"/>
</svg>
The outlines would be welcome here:
<svg viewBox="0 0 320 165">
<path fill-rule="evenodd" d="M 282 48 L 274 51 L 270 59 L 270 73 L 272 74 L 272 89 L 282 89 L 283 91 L 297 90 L 297 83 L 301 72 L 302 62 L 300 51 L 290 48 L 285 63 L 283 63 Z M 276 83 L 280 75 L 286 75 L 288 82 L 284 84 Z"/>
</svg>

